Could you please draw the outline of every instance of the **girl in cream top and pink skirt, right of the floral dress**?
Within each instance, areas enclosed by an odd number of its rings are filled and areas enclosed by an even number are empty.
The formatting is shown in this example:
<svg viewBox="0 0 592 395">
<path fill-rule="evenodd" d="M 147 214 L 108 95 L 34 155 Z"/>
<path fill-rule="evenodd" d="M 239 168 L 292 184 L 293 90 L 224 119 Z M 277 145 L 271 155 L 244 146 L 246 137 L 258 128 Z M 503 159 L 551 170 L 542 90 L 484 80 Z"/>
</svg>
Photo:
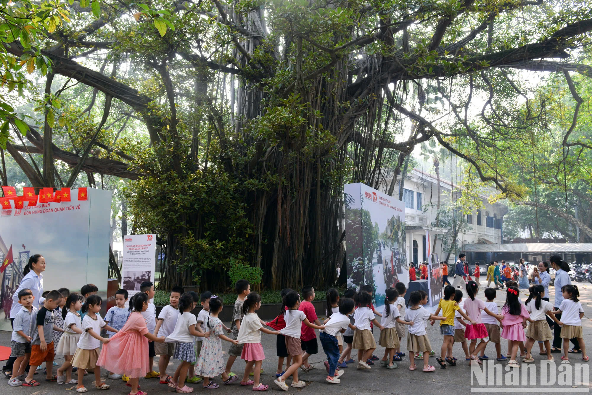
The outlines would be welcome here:
<svg viewBox="0 0 592 395">
<path fill-rule="evenodd" d="M 247 362 L 240 385 L 252 385 L 253 391 L 265 391 L 269 388 L 269 386 L 259 381 L 261 365 L 265 360 L 263 346 L 261 345 L 261 332 L 269 335 L 279 335 L 279 331 L 271 331 L 263 327 L 263 325 L 267 326 L 267 324 L 255 313 L 256 310 L 259 310 L 259 307 L 261 307 L 261 296 L 258 293 L 251 292 L 244 298 L 244 316 L 243 321 L 240 323 L 239 336 L 236 338 L 239 344 L 243 344 L 243 353 L 240 358 Z M 255 370 L 253 370 L 253 365 L 255 365 Z M 249 380 L 251 372 L 254 373 L 253 378 L 255 380 Z"/>
</svg>

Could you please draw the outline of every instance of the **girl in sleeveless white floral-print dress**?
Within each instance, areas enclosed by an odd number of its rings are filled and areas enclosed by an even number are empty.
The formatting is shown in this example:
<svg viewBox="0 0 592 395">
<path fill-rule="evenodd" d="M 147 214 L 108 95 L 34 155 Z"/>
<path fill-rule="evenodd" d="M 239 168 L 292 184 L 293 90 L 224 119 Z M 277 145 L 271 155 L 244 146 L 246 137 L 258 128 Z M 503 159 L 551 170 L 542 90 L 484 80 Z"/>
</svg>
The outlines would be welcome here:
<svg viewBox="0 0 592 395">
<path fill-rule="evenodd" d="M 218 318 L 221 311 L 222 300 L 218 296 L 212 295 L 210 297 L 210 313 L 205 323 L 208 332 L 201 335 L 204 337 L 204 341 L 201 344 L 200 357 L 195 364 L 195 375 L 201 375 L 204 378 L 202 386 L 207 390 L 219 387 L 218 384 L 210 381 L 211 378 L 217 375 L 222 375 L 224 384 L 233 383 L 239 378 L 237 375 L 229 376 L 226 374 L 226 364 L 224 364 L 224 358 L 222 357 L 222 340 L 231 342 L 234 345 L 239 344 L 239 342 L 223 335 L 222 321 Z"/>
</svg>

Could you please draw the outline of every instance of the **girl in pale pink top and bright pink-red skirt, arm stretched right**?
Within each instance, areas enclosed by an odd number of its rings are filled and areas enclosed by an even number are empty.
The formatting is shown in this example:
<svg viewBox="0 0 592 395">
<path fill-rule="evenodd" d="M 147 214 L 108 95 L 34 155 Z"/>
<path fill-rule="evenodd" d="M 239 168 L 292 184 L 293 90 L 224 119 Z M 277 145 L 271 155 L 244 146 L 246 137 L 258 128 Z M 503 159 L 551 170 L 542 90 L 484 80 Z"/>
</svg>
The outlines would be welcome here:
<svg viewBox="0 0 592 395">
<path fill-rule="evenodd" d="M 471 346 L 469 347 L 471 360 L 477 361 L 478 364 L 481 365 L 482 362 L 477 355 L 487 347 L 487 343 L 489 342 L 487 328 L 485 328 L 485 324 L 481 320 L 481 310 L 500 322 L 504 319 L 504 316 L 491 312 L 485 307 L 485 302 L 483 300 L 475 299 L 478 292 L 479 287 L 475 281 L 471 280 L 466 283 L 466 293 L 469 295 L 469 298 L 465 299 L 463 308 L 465 309 L 466 315 L 474 321 L 474 323 L 466 325 L 465 328 L 465 339 L 471 341 Z M 479 344 L 477 344 L 478 339 L 481 339 Z"/>
</svg>

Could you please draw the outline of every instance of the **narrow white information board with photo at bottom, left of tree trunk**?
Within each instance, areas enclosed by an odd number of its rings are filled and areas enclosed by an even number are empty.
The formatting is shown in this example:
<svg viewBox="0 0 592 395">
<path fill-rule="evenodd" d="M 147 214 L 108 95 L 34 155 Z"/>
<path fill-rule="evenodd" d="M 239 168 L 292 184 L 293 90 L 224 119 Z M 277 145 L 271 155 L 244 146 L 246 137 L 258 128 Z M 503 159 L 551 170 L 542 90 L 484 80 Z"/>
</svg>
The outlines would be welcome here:
<svg viewBox="0 0 592 395">
<path fill-rule="evenodd" d="M 121 287 L 128 292 L 128 301 L 140 292 L 144 281 L 155 281 L 156 235 L 127 235 L 123 238 Z"/>
</svg>

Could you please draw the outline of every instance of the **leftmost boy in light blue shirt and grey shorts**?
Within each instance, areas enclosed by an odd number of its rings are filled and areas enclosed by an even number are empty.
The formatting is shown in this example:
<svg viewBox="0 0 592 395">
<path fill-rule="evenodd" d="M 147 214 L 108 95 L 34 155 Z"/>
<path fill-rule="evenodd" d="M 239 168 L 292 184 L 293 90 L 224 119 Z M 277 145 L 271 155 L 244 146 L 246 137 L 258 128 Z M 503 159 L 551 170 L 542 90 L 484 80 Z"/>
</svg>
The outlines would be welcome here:
<svg viewBox="0 0 592 395">
<path fill-rule="evenodd" d="M 31 341 L 30 336 L 31 322 L 34 316 L 37 316 L 37 307 L 33 307 L 33 292 L 30 289 L 21 289 L 18 292 L 18 304 L 22 306 L 18 310 L 17 315 L 12 321 L 12 337 L 10 341 L 12 358 L 17 358 L 12 365 L 12 375 L 8 380 L 8 385 L 11 387 L 22 386 L 20 377 L 25 373 L 25 368 L 31 358 Z"/>
</svg>

